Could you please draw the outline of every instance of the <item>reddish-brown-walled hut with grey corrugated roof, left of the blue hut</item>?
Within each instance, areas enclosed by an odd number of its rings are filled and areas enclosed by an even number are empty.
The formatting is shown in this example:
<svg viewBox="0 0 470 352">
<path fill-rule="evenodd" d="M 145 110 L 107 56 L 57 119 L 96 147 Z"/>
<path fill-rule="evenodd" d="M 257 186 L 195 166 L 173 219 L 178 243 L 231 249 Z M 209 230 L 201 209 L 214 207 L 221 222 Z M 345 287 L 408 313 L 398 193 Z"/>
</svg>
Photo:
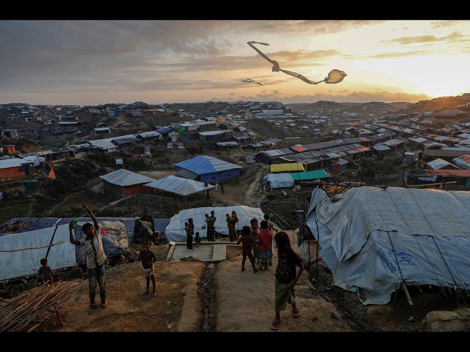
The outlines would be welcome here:
<svg viewBox="0 0 470 352">
<path fill-rule="evenodd" d="M 144 186 L 155 179 L 119 169 L 100 176 L 103 179 L 104 193 L 112 197 L 125 197 L 131 194 L 146 193 L 151 189 Z"/>
</svg>

